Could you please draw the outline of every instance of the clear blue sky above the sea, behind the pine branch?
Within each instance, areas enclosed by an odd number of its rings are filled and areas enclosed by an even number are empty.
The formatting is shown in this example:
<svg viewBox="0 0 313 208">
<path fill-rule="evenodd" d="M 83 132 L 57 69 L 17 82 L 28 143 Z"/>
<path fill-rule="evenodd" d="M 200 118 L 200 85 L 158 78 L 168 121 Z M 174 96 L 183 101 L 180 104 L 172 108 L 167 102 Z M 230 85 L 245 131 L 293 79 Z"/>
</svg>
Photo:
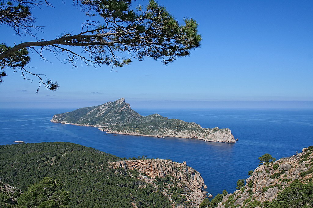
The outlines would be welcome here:
<svg viewBox="0 0 313 208">
<path fill-rule="evenodd" d="M 168 66 L 135 60 L 115 72 L 106 66 L 72 69 L 49 52 L 52 64 L 31 54 L 31 70 L 58 81 L 59 90 L 35 94 L 36 77 L 30 83 L 6 69 L 1 107 L 76 108 L 125 97 L 132 107 L 313 108 L 313 1 L 158 2 L 178 21 L 192 17 L 199 23 L 202 46 L 190 57 Z M 79 32 L 87 17 L 71 1 L 53 5 L 33 10 L 36 24 L 45 26 L 38 39 Z M 34 41 L 0 28 L 7 45 Z"/>
</svg>

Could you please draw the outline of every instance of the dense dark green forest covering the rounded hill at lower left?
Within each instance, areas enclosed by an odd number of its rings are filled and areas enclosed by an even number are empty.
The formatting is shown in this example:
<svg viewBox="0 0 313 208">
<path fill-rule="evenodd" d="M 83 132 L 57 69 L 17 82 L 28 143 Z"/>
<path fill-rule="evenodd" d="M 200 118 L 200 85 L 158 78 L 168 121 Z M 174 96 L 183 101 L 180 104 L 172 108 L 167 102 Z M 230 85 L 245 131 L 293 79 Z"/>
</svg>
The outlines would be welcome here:
<svg viewBox="0 0 313 208">
<path fill-rule="evenodd" d="M 138 172 L 110 169 L 121 158 L 73 143 L 0 146 L 0 180 L 27 191 L 44 177 L 57 179 L 69 193 L 70 207 L 172 207 L 155 186 L 134 177 Z M 165 179 L 163 179 L 165 180 Z M 161 184 L 166 181 L 159 181 Z M 172 181 L 171 181 L 172 182 Z M 182 190 L 174 201 L 185 204 Z"/>
</svg>

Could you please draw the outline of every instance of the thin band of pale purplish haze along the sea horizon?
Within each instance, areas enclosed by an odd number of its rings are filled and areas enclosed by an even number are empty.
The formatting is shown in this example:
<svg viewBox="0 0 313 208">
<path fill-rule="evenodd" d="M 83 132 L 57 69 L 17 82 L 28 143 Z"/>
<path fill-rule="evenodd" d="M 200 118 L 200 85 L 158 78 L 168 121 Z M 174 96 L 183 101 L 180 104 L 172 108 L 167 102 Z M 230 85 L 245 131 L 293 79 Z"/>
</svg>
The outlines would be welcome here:
<svg viewBox="0 0 313 208">
<path fill-rule="evenodd" d="M 104 104 L 114 101 L 120 97 L 108 99 L 67 99 L 51 100 L 45 99 L 39 102 L 10 100 L 0 102 L 2 108 L 83 108 Z M 127 98 L 132 108 L 255 108 L 255 109 L 313 109 L 313 101 L 200 101 L 200 100 L 142 100 Z"/>
</svg>

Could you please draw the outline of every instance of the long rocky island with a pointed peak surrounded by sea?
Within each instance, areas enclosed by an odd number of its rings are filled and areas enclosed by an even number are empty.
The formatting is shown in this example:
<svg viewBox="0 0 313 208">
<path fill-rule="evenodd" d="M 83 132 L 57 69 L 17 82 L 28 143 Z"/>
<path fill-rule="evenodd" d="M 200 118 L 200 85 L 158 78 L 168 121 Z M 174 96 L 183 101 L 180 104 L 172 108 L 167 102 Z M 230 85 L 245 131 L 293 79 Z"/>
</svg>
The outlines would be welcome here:
<svg viewBox="0 0 313 208">
<path fill-rule="evenodd" d="M 168 119 L 159 114 L 142 116 L 131 109 L 130 104 L 126 103 L 124 98 L 98 106 L 55 114 L 51 122 L 94 126 L 99 127 L 101 131 L 113 134 L 193 138 L 208 142 L 236 142 L 228 128 L 202 128 L 197 123 Z"/>
</svg>

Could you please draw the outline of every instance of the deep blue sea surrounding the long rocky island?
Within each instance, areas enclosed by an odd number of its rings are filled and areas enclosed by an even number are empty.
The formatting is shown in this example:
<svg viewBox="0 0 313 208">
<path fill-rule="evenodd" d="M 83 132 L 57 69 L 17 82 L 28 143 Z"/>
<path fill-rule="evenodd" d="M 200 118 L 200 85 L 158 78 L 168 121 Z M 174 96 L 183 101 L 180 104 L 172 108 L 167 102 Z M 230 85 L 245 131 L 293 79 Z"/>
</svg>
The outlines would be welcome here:
<svg viewBox="0 0 313 208">
<path fill-rule="evenodd" d="M 74 109 L 1 109 L 0 145 L 22 140 L 28 143 L 72 142 L 118 157 L 186 161 L 199 171 L 216 195 L 235 191 L 236 181 L 247 178 L 265 153 L 280 159 L 313 145 L 313 110 L 300 109 L 135 109 L 141 115 L 158 113 L 195 122 L 203 128 L 229 128 L 235 144 L 198 139 L 153 138 L 106 134 L 95 127 L 51 123 L 54 114 Z M 17 144 L 18 145 L 18 144 Z"/>
</svg>

